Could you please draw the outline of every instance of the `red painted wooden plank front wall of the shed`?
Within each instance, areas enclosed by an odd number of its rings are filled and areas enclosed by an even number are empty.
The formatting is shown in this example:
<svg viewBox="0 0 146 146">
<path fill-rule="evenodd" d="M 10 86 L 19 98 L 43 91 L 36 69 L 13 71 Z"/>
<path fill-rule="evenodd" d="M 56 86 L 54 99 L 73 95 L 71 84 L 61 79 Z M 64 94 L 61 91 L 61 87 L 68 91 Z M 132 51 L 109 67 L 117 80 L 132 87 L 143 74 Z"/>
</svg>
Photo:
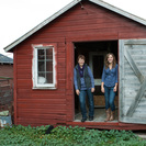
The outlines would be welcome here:
<svg viewBox="0 0 146 146">
<path fill-rule="evenodd" d="M 66 124 L 74 120 L 72 42 L 146 38 L 146 27 L 96 4 L 83 2 L 18 45 L 14 53 L 14 122 Z M 32 89 L 32 44 L 57 43 L 57 89 Z M 87 126 L 87 125 L 86 125 Z"/>
</svg>

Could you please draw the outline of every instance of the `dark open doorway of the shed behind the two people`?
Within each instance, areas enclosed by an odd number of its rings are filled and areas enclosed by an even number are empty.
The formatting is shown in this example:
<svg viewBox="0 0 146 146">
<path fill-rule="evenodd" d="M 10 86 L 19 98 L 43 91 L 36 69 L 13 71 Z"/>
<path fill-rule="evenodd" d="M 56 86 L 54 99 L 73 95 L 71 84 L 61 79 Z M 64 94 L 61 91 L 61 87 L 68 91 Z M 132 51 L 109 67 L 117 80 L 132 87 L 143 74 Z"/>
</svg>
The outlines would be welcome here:
<svg viewBox="0 0 146 146">
<path fill-rule="evenodd" d="M 90 67 L 94 77 L 94 120 L 93 122 L 104 122 L 105 120 L 105 102 L 104 94 L 101 92 L 101 76 L 104 66 L 104 57 L 108 53 L 113 53 L 117 58 L 117 41 L 98 41 L 98 42 L 80 42 L 74 43 L 75 46 L 75 65 L 77 65 L 78 55 L 85 55 L 86 64 Z M 117 122 L 119 111 L 119 96 L 115 97 L 115 120 Z M 87 112 L 88 112 L 88 100 L 87 100 Z M 75 121 L 81 120 L 79 99 L 75 92 Z"/>
</svg>

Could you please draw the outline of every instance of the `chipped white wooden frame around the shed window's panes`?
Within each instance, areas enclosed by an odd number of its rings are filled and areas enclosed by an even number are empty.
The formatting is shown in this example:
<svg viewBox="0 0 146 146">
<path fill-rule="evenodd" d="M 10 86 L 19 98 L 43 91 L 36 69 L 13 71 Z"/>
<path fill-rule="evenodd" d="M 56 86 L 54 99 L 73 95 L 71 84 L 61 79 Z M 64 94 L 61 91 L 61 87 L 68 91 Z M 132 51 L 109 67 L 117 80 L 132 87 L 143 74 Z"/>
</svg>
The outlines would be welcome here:
<svg viewBox="0 0 146 146">
<path fill-rule="evenodd" d="M 38 44 L 38 45 L 32 45 L 33 46 L 33 66 L 32 66 L 32 72 L 33 72 L 33 89 L 56 89 L 57 88 L 57 67 L 56 67 L 56 44 Z M 45 49 L 45 48 L 53 48 L 53 83 L 37 83 L 38 81 L 38 68 L 37 68 L 37 50 L 38 49 Z"/>
</svg>

